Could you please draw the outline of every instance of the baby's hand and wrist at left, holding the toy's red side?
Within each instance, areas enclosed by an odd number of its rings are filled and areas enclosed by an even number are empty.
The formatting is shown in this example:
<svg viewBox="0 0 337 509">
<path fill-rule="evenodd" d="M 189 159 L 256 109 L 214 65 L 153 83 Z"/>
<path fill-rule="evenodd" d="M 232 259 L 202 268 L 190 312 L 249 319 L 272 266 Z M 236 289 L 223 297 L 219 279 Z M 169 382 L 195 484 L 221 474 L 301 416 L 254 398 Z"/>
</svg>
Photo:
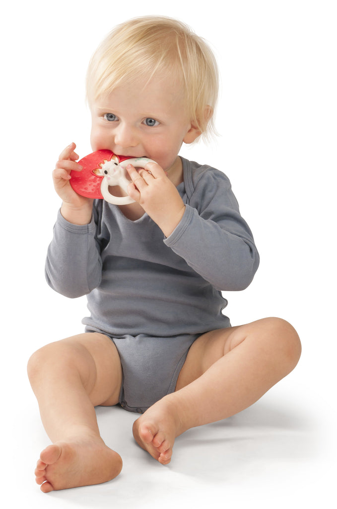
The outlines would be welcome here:
<svg viewBox="0 0 337 509">
<path fill-rule="evenodd" d="M 75 148 L 76 145 L 71 143 L 60 153 L 52 176 L 55 191 L 63 201 L 61 213 L 64 218 L 75 224 L 86 224 L 91 220 L 93 200 L 77 194 L 70 185 L 70 172 L 82 169 L 76 162 L 79 156 L 74 152 Z"/>
</svg>

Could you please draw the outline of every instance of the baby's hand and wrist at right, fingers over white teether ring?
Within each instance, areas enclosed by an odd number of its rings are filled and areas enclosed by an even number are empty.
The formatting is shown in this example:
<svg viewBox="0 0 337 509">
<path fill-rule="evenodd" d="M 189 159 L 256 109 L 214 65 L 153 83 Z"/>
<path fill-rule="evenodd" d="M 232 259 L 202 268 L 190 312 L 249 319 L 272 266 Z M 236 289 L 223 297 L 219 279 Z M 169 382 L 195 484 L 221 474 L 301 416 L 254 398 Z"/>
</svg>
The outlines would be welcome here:
<svg viewBox="0 0 337 509">
<path fill-rule="evenodd" d="M 185 212 L 177 188 L 155 162 L 148 162 L 139 172 L 128 164 L 127 171 L 132 179 L 128 185 L 129 196 L 142 206 L 168 237 Z"/>
</svg>

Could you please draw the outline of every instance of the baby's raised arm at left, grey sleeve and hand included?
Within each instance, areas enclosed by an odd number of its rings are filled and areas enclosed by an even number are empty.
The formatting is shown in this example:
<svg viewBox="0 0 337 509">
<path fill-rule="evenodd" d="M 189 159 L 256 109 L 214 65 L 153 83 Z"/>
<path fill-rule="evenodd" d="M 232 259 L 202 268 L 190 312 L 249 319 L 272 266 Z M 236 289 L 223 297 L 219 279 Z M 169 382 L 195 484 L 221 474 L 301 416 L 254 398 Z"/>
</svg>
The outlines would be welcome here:
<svg viewBox="0 0 337 509">
<path fill-rule="evenodd" d="M 71 144 L 60 154 L 53 171 L 55 190 L 63 202 L 45 267 L 49 286 L 71 298 L 88 294 L 99 285 L 102 275 L 93 200 L 77 194 L 69 183 L 70 172 L 80 171 L 74 149 Z"/>
</svg>

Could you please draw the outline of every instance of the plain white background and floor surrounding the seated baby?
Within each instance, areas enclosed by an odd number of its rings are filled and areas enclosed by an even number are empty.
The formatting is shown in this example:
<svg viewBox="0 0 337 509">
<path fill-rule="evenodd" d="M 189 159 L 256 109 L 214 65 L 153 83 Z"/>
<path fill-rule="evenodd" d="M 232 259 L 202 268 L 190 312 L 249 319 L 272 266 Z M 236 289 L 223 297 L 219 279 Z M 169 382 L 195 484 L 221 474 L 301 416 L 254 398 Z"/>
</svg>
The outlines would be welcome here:
<svg viewBox="0 0 337 509">
<path fill-rule="evenodd" d="M 325 0 L 32 0 L 2 7 L 1 469 L 6 507 L 333 507 L 335 489 L 336 15 Z M 225 294 L 233 325 L 281 316 L 298 330 L 295 371 L 248 410 L 193 429 L 163 467 L 133 443 L 136 415 L 98 409 L 124 458 L 102 486 L 49 495 L 34 466 L 49 440 L 26 377 L 40 346 L 81 332 L 85 299 L 44 280 L 59 207 L 51 171 L 70 142 L 89 153 L 84 76 L 91 53 L 130 17 L 178 17 L 208 40 L 222 75 L 210 146 L 183 156 L 221 168 L 253 230 L 260 269 Z M 334 480 L 333 480 L 334 483 Z"/>
</svg>

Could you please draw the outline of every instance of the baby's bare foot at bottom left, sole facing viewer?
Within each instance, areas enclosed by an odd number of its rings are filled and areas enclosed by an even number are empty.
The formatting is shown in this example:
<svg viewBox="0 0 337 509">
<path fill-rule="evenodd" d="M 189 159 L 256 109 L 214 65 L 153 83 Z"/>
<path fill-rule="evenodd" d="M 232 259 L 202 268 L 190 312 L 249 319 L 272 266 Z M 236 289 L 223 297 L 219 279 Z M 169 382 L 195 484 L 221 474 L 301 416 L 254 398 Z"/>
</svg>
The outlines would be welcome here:
<svg viewBox="0 0 337 509">
<path fill-rule="evenodd" d="M 46 447 L 35 470 L 41 491 L 105 483 L 122 467 L 120 456 L 100 439 L 78 438 Z"/>
</svg>

